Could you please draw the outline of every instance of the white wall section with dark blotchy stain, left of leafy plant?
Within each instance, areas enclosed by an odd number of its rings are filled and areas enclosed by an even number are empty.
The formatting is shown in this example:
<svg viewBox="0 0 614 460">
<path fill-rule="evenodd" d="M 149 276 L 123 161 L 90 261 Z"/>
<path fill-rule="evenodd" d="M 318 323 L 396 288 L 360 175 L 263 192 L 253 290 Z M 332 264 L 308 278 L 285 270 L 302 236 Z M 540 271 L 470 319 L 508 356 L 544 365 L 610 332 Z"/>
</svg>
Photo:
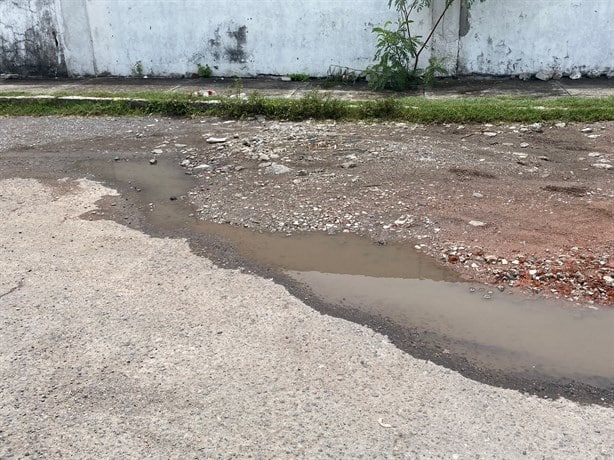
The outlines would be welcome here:
<svg viewBox="0 0 614 460">
<path fill-rule="evenodd" d="M 393 17 L 385 0 L 60 3 L 72 74 L 130 75 L 137 62 L 153 75 L 196 72 L 197 64 L 241 76 L 364 69 L 375 50 L 373 25 Z M 419 21 L 428 26 L 429 12 Z"/>
</svg>

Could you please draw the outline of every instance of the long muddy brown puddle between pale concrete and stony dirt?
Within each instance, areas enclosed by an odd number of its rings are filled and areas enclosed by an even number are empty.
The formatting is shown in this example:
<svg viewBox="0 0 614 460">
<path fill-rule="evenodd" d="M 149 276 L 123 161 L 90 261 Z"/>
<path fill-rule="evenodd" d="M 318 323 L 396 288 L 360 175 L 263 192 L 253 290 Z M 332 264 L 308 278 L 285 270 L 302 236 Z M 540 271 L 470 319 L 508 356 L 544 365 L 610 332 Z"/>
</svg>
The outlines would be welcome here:
<svg viewBox="0 0 614 460">
<path fill-rule="evenodd" d="M 138 190 L 156 228 L 217 236 L 243 257 L 307 286 L 323 302 L 427 331 L 443 353 L 476 368 L 614 388 L 614 309 L 460 282 L 407 245 L 381 246 L 350 234 L 287 236 L 203 223 L 189 205 L 196 183 L 175 163 L 89 161 L 78 168 Z"/>
</svg>

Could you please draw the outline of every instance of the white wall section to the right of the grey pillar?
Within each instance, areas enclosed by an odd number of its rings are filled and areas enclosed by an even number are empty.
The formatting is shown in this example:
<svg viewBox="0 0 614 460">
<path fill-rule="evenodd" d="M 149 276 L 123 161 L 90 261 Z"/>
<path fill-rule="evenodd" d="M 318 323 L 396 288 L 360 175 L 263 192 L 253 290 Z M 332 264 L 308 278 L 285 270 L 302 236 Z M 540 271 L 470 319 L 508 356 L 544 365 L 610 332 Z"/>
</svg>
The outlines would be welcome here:
<svg viewBox="0 0 614 460">
<path fill-rule="evenodd" d="M 469 14 L 461 74 L 614 71 L 614 0 L 487 0 Z"/>
</svg>

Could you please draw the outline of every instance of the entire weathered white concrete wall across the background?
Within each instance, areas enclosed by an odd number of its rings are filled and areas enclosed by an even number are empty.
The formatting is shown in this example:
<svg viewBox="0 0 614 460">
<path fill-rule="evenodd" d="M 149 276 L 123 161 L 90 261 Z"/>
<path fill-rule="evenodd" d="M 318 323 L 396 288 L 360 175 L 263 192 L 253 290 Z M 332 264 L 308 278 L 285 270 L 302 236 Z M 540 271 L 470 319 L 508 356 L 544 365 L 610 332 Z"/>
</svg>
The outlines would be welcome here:
<svg viewBox="0 0 614 460">
<path fill-rule="evenodd" d="M 388 19 L 387 0 L 0 0 L 0 72 L 323 76 L 370 65 Z M 456 0 L 433 47 L 451 74 L 614 73 L 614 0 L 486 0 L 468 17 Z"/>
</svg>

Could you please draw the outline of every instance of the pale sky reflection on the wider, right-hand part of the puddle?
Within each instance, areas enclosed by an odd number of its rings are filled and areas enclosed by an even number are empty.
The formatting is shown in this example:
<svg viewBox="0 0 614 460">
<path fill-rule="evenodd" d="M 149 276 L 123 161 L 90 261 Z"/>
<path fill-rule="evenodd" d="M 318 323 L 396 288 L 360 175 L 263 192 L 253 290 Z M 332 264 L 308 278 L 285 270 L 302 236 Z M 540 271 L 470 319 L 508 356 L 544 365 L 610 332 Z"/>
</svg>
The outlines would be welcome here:
<svg viewBox="0 0 614 460">
<path fill-rule="evenodd" d="M 287 272 L 335 304 L 377 312 L 445 337 L 477 366 L 614 385 L 614 312 L 500 293 L 467 284 Z"/>
</svg>

